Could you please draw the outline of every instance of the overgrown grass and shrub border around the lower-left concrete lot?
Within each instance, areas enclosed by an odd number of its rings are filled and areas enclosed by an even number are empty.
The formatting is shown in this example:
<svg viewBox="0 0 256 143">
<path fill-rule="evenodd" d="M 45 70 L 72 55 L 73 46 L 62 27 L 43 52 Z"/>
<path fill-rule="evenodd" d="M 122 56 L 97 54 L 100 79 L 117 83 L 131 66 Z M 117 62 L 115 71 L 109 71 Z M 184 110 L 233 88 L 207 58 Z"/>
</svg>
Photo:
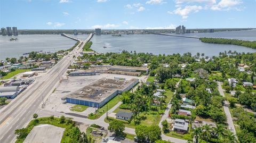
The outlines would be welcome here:
<svg viewBox="0 0 256 143">
<path fill-rule="evenodd" d="M 57 117 L 54 117 L 53 120 L 50 120 L 49 117 L 41 117 L 41 118 L 38 118 L 37 120 L 38 120 L 38 122 L 35 122 L 35 120 L 32 120 L 29 122 L 28 126 L 26 127 L 28 129 L 28 132 L 30 132 L 36 125 L 51 124 L 56 127 L 66 128 L 63 133 L 61 143 L 62 142 L 70 142 L 70 137 L 68 135 L 68 132 L 69 132 L 70 128 L 72 127 L 72 124 L 66 124 L 66 123 L 60 124 L 60 119 Z M 15 141 L 15 143 L 22 143 L 24 140 L 25 140 L 25 138 L 17 139 Z"/>
</svg>

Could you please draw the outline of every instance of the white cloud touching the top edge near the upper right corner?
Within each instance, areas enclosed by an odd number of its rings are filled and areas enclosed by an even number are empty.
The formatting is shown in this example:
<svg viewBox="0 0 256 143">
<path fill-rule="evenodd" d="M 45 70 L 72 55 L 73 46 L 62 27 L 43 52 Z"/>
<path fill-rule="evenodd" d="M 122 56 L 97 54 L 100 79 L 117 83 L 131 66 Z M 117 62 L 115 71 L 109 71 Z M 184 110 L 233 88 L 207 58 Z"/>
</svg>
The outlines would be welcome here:
<svg viewBox="0 0 256 143">
<path fill-rule="evenodd" d="M 241 11 L 241 9 L 238 9 L 237 7 L 233 7 L 235 5 L 242 4 L 243 2 L 241 0 L 221 0 L 218 4 L 212 5 L 212 10 L 230 10 L 234 8 L 237 11 Z"/>
</svg>

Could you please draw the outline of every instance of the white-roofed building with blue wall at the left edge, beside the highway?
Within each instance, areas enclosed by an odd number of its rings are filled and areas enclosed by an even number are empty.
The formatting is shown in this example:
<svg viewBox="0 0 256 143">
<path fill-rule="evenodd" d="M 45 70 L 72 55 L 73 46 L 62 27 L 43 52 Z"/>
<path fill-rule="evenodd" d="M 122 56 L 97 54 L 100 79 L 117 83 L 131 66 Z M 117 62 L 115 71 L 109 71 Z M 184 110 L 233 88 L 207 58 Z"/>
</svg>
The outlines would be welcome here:
<svg viewBox="0 0 256 143">
<path fill-rule="evenodd" d="M 19 86 L 0 87 L 0 97 L 6 97 L 7 99 L 13 99 L 18 95 Z"/>
</svg>

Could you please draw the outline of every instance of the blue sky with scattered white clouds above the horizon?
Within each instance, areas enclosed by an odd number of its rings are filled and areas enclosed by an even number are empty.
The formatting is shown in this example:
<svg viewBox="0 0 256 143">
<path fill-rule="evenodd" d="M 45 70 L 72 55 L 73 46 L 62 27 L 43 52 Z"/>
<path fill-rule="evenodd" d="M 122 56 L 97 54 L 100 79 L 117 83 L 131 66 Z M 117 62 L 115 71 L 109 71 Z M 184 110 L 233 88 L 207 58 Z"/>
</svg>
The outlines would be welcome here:
<svg viewBox="0 0 256 143">
<path fill-rule="evenodd" d="M 256 28 L 256 0 L 0 0 L 18 29 Z"/>
</svg>

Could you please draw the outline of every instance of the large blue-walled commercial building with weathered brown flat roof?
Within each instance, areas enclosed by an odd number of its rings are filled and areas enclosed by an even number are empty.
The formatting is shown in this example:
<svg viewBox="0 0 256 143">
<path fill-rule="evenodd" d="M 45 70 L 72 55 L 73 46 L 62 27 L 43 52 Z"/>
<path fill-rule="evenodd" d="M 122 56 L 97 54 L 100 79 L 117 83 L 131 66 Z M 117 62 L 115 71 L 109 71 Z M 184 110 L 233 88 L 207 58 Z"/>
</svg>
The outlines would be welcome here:
<svg viewBox="0 0 256 143">
<path fill-rule="evenodd" d="M 110 99 L 132 89 L 138 79 L 117 80 L 102 78 L 66 96 L 67 103 L 100 108 Z"/>
</svg>

